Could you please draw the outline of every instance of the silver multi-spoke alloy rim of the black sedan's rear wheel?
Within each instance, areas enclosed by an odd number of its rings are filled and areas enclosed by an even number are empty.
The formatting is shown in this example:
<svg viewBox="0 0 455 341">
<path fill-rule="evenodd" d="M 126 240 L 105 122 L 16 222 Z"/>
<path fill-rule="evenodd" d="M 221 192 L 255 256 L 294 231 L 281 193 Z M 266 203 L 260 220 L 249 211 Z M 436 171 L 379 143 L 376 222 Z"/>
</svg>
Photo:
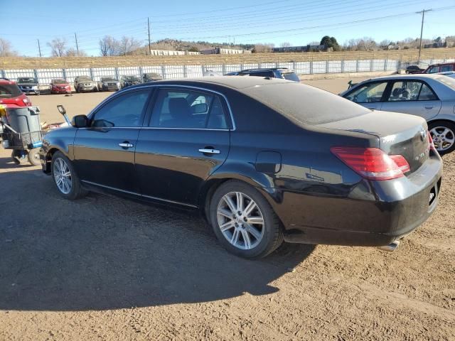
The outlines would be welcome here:
<svg viewBox="0 0 455 341">
<path fill-rule="evenodd" d="M 264 216 L 251 197 L 241 192 L 224 195 L 217 207 L 218 228 L 237 249 L 254 249 L 264 237 Z"/>
</svg>

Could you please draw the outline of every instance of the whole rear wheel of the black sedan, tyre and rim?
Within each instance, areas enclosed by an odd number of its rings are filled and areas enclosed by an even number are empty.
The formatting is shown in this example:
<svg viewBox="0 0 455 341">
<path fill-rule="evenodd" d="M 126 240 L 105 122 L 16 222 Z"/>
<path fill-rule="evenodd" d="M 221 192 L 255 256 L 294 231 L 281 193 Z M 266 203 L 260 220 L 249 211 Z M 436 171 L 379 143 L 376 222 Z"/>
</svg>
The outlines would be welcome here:
<svg viewBox="0 0 455 341">
<path fill-rule="evenodd" d="M 223 183 L 213 194 L 210 222 L 221 244 L 244 258 L 267 256 L 283 242 L 282 228 L 269 202 L 237 180 Z"/>
</svg>

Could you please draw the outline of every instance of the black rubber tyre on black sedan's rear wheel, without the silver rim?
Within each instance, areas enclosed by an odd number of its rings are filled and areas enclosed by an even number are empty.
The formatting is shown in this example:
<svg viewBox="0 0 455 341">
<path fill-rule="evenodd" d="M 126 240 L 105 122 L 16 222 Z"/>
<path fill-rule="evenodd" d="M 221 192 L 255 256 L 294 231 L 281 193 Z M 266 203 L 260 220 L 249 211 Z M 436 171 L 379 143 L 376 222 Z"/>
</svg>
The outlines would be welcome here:
<svg viewBox="0 0 455 341">
<path fill-rule="evenodd" d="M 253 237 L 250 242 L 255 241 L 257 243 L 250 249 L 241 249 L 240 247 L 236 247 L 235 245 L 231 244 L 231 242 L 228 241 L 228 237 L 225 237 L 225 234 L 223 234 L 220 229 L 220 222 L 218 220 L 217 214 L 218 205 L 223 205 L 223 203 L 220 202 L 223 202 L 223 197 L 225 197 L 225 195 L 228 195 L 228 193 L 242 193 L 245 195 L 245 200 L 253 200 L 258 207 L 255 215 L 262 215 L 264 224 L 262 224 L 260 228 L 260 231 L 262 233 L 261 239 L 254 238 L 254 234 L 249 234 L 249 237 L 246 238 L 250 239 L 250 237 Z M 245 206 L 247 206 L 247 202 L 245 202 L 244 207 Z M 243 212 L 244 215 L 245 212 Z M 225 219 L 227 222 L 234 222 L 232 217 Z M 237 219 L 242 219 L 242 215 L 238 215 Z M 245 219 L 245 217 L 243 219 Z M 270 254 L 272 251 L 277 249 L 277 247 L 279 247 L 283 242 L 282 227 L 280 226 L 277 215 L 269 205 L 269 202 L 267 202 L 262 194 L 259 193 L 254 187 L 238 180 L 229 180 L 228 182 L 223 183 L 217 190 L 215 190 L 215 193 L 213 193 L 213 196 L 210 200 L 210 224 L 213 227 L 213 232 L 215 232 L 216 237 L 218 237 L 218 240 L 221 244 L 223 244 L 223 247 L 225 247 L 225 249 L 232 252 L 232 254 L 236 254 L 237 256 L 241 256 L 247 259 L 259 259 L 267 256 L 267 254 Z M 248 226 L 247 223 L 245 223 L 245 225 Z M 242 221 L 239 222 L 238 227 L 237 225 L 235 226 L 236 227 L 232 227 L 232 229 L 228 230 L 232 231 L 232 236 L 234 235 L 235 229 L 245 229 L 245 227 L 242 227 Z M 245 231 L 240 231 L 240 233 L 237 232 L 237 235 L 241 236 L 237 237 L 237 239 L 239 243 L 242 243 L 240 240 L 243 239 L 245 247 L 247 243 L 243 237 L 244 232 Z M 225 233 L 229 234 L 231 232 Z M 255 243 L 252 242 L 250 245 L 253 246 L 253 244 Z"/>
</svg>

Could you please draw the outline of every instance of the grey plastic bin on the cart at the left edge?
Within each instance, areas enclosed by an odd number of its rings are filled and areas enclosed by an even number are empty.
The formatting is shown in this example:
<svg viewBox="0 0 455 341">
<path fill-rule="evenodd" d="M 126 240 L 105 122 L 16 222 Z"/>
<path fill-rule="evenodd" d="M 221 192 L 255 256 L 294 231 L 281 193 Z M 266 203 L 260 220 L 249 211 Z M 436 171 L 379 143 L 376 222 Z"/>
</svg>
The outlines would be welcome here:
<svg viewBox="0 0 455 341">
<path fill-rule="evenodd" d="M 6 124 L 17 133 L 41 131 L 40 109 L 38 107 L 6 108 Z"/>
</svg>

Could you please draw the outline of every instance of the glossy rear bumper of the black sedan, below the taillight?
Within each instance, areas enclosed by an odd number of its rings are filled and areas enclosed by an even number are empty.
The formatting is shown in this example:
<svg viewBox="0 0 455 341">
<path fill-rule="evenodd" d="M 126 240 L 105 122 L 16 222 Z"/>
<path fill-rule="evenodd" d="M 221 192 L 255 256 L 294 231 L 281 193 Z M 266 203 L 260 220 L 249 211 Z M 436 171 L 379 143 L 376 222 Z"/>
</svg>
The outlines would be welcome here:
<svg viewBox="0 0 455 341">
<path fill-rule="evenodd" d="M 437 156 L 410 178 L 363 184 L 371 189 L 370 199 L 283 192 L 282 202 L 272 205 L 284 224 L 287 242 L 384 246 L 410 234 L 432 215 L 441 176 Z"/>
</svg>

